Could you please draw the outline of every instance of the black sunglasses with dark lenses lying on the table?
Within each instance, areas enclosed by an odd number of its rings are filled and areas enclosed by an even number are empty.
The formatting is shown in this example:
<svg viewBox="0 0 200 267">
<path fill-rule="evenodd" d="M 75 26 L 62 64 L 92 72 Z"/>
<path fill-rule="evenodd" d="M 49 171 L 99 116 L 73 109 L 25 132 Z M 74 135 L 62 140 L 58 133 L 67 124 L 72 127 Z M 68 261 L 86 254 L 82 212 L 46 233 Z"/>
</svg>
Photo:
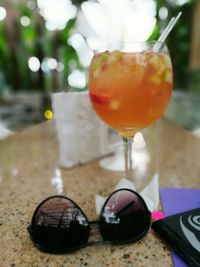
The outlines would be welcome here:
<svg viewBox="0 0 200 267">
<path fill-rule="evenodd" d="M 28 231 L 41 251 L 60 254 L 95 244 L 133 243 L 148 232 L 150 224 L 151 213 L 143 198 L 133 190 L 119 189 L 107 198 L 96 221 L 89 221 L 70 198 L 51 196 L 36 208 Z M 101 241 L 88 241 L 93 226 L 98 227 Z"/>
</svg>

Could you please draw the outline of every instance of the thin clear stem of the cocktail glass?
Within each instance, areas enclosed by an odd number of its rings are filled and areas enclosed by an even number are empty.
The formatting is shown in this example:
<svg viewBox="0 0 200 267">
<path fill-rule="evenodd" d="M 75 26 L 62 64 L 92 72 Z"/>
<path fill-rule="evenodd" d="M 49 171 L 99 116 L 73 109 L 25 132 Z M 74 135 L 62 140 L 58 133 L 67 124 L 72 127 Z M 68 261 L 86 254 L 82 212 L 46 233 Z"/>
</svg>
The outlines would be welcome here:
<svg viewBox="0 0 200 267">
<path fill-rule="evenodd" d="M 124 143 L 125 178 L 132 181 L 132 144 L 133 137 L 122 137 Z"/>
</svg>

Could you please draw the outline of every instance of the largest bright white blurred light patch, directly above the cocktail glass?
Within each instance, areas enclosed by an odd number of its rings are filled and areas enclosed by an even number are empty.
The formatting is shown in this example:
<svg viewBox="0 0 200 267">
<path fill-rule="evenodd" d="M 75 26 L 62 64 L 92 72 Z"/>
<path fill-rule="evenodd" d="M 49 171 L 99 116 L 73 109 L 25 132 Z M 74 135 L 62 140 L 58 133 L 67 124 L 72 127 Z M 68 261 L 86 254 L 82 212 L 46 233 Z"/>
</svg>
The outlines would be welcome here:
<svg viewBox="0 0 200 267">
<path fill-rule="evenodd" d="M 153 0 L 86 1 L 81 5 L 77 30 L 96 50 L 107 43 L 146 41 L 156 24 Z"/>
</svg>

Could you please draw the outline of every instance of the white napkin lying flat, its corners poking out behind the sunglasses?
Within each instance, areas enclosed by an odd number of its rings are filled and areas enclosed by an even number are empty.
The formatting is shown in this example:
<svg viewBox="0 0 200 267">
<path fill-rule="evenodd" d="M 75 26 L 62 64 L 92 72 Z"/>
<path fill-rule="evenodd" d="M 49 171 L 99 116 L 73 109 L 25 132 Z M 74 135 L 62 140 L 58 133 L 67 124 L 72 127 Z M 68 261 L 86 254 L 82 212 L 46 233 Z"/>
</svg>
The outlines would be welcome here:
<svg viewBox="0 0 200 267">
<path fill-rule="evenodd" d="M 132 182 L 127 179 L 121 179 L 115 190 L 120 188 L 128 188 L 135 190 L 135 186 Z M 153 178 L 151 179 L 150 183 L 140 192 L 140 195 L 143 197 L 149 211 L 156 211 L 159 205 L 159 174 L 155 173 Z M 105 203 L 107 197 L 103 197 L 100 195 L 96 195 L 95 202 L 96 202 L 96 213 L 100 214 L 101 208 Z"/>
</svg>

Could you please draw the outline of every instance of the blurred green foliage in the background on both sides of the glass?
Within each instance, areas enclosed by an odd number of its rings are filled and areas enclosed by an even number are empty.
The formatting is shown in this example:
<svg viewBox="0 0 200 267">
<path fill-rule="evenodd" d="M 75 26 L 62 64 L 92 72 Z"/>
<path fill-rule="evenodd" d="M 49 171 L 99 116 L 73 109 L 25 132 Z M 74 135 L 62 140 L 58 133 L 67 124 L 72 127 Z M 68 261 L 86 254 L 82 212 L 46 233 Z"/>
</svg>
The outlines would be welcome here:
<svg viewBox="0 0 200 267">
<path fill-rule="evenodd" d="M 72 2 L 79 7 L 83 0 Z M 169 19 L 179 11 L 183 12 L 167 39 L 174 66 L 174 87 L 182 90 L 195 88 L 200 91 L 199 71 L 189 71 L 192 13 L 197 0 L 190 0 L 182 6 L 175 2 L 156 0 L 157 25 L 149 39 L 157 39 Z M 12 13 L 12 24 L 0 21 L 0 92 L 7 87 L 15 91 L 41 90 L 44 93 L 67 89 L 67 77 L 71 72 L 70 60 L 76 62 L 77 68 L 82 68 L 76 51 L 67 43 L 76 19 L 70 20 L 64 30 L 48 31 L 37 8 L 29 9 L 27 1 L 0 0 L 1 5 Z M 161 20 L 158 15 L 163 6 L 168 9 L 165 20 Z M 20 24 L 22 16 L 30 18 L 29 26 L 23 27 Z M 40 62 L 44 58 L 53 57 L 64 64 L 64 70 L 51 70 L 46 73 L 40 69 L 38 72 L 32 72 L 28 68 L 28 59 L 32 56 L 36 56 Z"/>
</svg>

